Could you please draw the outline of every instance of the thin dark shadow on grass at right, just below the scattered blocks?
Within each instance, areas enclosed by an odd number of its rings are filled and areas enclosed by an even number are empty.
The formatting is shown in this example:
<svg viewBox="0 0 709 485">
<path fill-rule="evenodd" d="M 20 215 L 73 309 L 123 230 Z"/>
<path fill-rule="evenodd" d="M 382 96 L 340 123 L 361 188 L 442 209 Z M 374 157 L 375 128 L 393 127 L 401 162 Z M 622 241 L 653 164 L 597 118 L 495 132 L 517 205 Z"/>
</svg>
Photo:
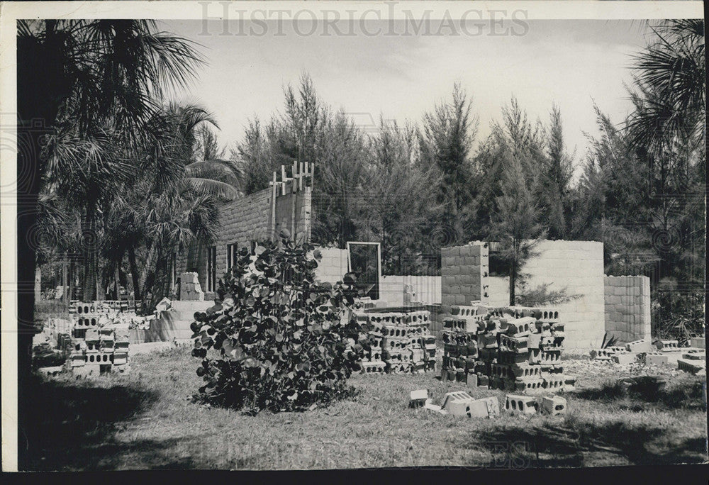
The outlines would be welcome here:
<svg viewBox="0 0 709 485">
<path fill-rule="evenodd" d="M 607 403 L 630 398 L 640 402 L 632 403 L 631 406 L 625 406 L 625 408 L 639 411 L 642 411 L 643 403 L 657 403 L 669 409 L 706 411 L 704 388 L 701 381 L 683 382 L 659 391 L 644 389 L 642 386 L 628 389 L 618 381 L 608 381 L 599 387 L 572 391 L 569 394 L 586 401 L 605 401 Z"/>
</svg>

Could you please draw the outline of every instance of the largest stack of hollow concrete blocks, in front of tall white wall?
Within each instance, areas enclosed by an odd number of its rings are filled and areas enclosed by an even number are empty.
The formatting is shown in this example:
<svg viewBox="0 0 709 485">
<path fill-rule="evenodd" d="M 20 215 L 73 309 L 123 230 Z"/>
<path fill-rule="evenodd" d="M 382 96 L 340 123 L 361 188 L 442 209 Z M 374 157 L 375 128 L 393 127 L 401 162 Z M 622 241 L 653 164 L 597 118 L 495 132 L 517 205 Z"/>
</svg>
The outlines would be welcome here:
<svg viewBox="0 0 709 485">
<path fill-rule="evenodd" d="M 451 308 L 443 320 L 441 378 L 524 394 L 573 388 L 561 364 L 559 311 L 537 308 Z"/>
</svg>

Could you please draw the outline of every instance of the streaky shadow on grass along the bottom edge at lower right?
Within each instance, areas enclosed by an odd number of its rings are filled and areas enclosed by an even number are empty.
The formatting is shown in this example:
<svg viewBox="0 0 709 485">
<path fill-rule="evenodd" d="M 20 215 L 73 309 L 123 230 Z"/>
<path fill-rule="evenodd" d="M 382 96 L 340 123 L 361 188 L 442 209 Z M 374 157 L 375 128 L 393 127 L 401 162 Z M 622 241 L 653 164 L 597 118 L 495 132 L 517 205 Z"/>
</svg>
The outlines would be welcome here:
<svg viewBox="0 0 709 485">
<path fill-rule="evenodd" d="M 493 455 L 489 464 L 493 468 L 678 464 L 707 459 L 703 438 L 671 440 L 666 429 L 624 422 L 599 425 L 571 420 L 559 426 L 495 428 L 462 446 L 479 449 L 481 443 Z"/>
</svg>

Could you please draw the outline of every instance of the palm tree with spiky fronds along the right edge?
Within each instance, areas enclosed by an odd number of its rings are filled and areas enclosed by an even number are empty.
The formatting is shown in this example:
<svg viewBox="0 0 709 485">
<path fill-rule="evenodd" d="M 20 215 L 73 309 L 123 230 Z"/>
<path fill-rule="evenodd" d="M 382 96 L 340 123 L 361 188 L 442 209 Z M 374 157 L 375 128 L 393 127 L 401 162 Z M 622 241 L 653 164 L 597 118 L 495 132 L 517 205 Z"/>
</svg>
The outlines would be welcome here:
<svg viewBox="0 0 709 485">
<path fill-rule="evenodd" d="M 654 33 L 654 43 L 635 59 L 635 111 L 625 130 L 649 172 L 653 237 L 681 241 L 659 245 L 659 277 L 667 277 L 688 267 L 686 247 L 704 245 L 698 230 L 705 210 L 704 21 L 668 21 Z"/>
</svg>

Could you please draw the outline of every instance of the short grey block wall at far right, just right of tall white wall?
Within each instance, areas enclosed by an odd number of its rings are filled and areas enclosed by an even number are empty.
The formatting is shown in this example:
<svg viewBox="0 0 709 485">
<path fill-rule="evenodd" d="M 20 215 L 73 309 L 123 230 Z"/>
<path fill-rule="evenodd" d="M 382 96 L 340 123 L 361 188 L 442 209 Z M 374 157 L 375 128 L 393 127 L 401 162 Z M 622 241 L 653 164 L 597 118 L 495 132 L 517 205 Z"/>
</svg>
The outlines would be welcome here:
<svg viewBox="0 0 709 485">
<path fill-rule="evenodd" d="M 607 276 L 604 283 L 605 331 L 623 342 L 652 338 L 650 279 Z"/>
</svg>

